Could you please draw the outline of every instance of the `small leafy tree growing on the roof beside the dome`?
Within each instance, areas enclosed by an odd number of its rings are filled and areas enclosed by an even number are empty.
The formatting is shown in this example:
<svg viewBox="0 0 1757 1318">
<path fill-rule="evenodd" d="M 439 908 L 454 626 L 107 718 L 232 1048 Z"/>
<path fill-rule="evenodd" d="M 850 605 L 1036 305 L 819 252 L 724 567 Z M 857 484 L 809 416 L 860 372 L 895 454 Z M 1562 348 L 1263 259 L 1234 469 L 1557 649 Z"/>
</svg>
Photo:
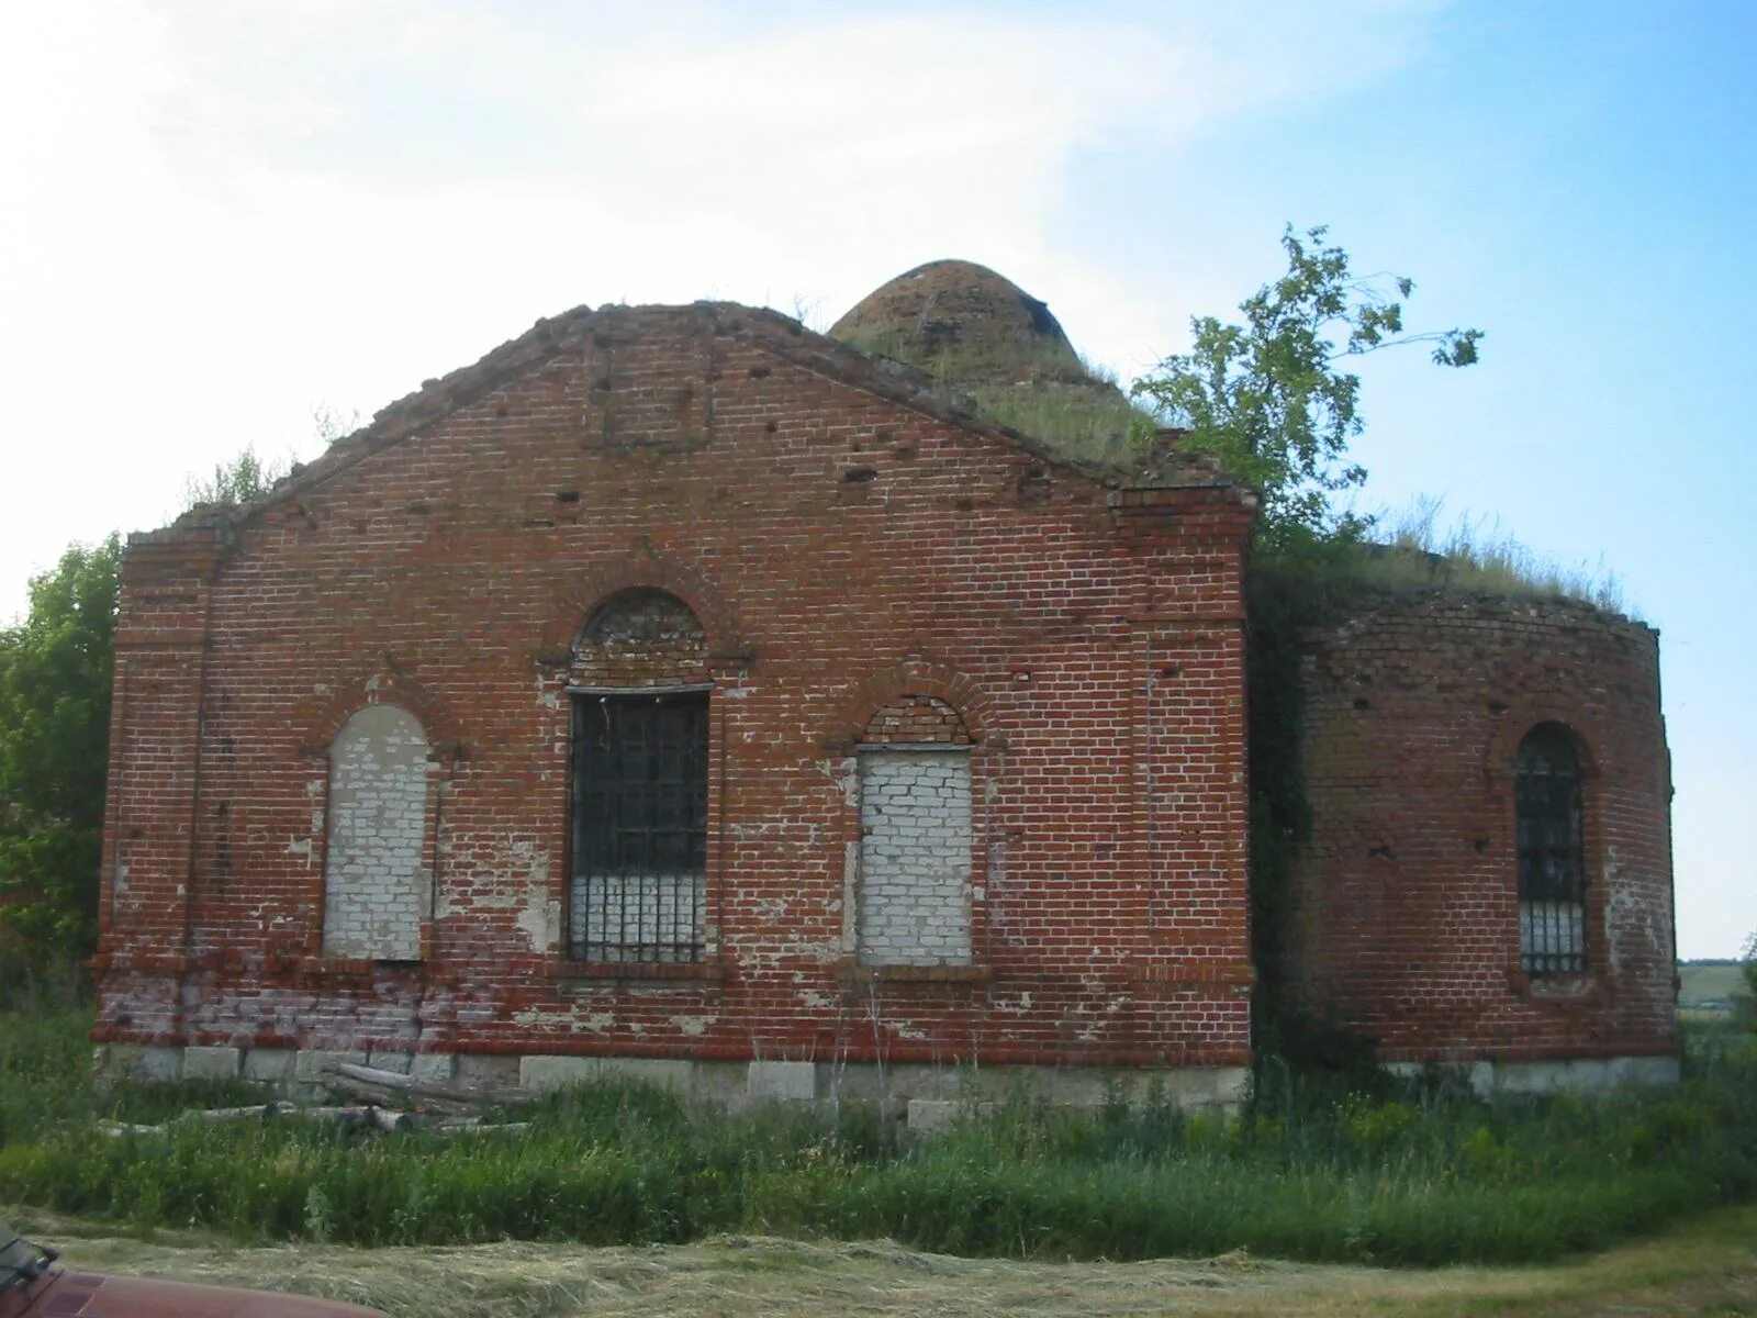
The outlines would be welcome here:
<svg viewBox="0 0 1757 1318">
<path fill-rule="evenodd" d="M 1244 322 L 1193 318 L 1189 353 L 1165 358 L 1133 387 L 1167 424 L 1189 431 L 1189 446 L 1219 455 L 1262 490 L 1260 534 L 1272 547 L 1363 525 L 1330 511 L 1330 496 L 1367 474 L 1344 457 L 1362 418 L 1360 376 L 1342 371 L 1342 358 L 1428 343 L 1439 366 L 1471 366 L 1483 337 L 1406 332 L 1402 299 L 1414 283 L 1355 276 L 1325 234 L 1290 225 L 1281 235 L 1288 272 L 1239 304 Z"/>
</svg>

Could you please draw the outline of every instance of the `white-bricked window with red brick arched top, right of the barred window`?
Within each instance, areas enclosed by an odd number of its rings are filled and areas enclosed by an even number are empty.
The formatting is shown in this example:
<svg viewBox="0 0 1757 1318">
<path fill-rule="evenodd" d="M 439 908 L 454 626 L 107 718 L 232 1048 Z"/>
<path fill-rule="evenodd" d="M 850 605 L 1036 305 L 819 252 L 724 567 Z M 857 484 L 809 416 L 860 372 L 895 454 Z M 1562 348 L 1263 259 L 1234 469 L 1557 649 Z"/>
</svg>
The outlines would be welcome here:
<svg viewBox="0 0 1757 1318">
<path fill-rule="evenodd" d="M 970 735 L 935 696 L 898 696 L 859 745 L 863 965 L 970 965 Z"/>
</svg>

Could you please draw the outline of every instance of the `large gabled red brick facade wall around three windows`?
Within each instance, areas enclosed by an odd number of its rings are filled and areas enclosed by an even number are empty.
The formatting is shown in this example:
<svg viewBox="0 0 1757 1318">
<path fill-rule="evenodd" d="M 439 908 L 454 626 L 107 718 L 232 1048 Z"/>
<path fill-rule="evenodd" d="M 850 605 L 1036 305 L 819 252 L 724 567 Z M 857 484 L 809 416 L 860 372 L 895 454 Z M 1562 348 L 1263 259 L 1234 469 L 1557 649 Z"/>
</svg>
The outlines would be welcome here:
<svg viewBox="0 0 1757 1318">
<path fill-rule="evenodd" d="M 1107 489 L 766 313 L 576 315 L 487 360 L 518 369 L 130 550 L 97 1039 L 1246 1058 L 1237 490 Z M 568 650 L 629 585 L 706 633 L 699 968 L 564 952 Z M 852 968 L 854 745 L 898 696 L 973 742 L 975 974 Z M 322 958 L 325 745 L 372 699 L 441 757 L 420 965 Z"/>
</svg>

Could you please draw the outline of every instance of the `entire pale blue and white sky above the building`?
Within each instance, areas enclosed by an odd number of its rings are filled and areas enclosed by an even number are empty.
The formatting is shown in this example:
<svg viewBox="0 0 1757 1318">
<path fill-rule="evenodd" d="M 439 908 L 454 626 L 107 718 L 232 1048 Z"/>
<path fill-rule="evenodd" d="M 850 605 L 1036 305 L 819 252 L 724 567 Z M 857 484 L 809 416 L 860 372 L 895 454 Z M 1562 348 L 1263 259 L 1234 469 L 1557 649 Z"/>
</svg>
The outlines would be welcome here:
<svg viewBox="0 0 1757 1318">
<path fill-rule="evenodd" d="M 1328 225 L 1483 362 L 1362 366 L 1362 510 L 1615 573 L 1660 629 L 1681 956 L 1757 930 L 1757 5 L 16 5 L 0 18 L 0 622 L 536 318 L 826 329 L 991 265 L 1126 381 Z"/>
</svg>

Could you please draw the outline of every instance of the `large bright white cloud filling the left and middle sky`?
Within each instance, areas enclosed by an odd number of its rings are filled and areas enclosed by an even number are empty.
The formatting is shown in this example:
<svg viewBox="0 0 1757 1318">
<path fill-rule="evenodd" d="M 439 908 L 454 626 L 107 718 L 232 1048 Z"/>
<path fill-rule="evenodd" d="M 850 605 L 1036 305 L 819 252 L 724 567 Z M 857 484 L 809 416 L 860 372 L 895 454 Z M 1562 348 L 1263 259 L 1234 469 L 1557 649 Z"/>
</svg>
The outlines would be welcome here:
<svg viewBox="0 0 1757 1318">
<path fill-rule="evenodd" d="M 1149 288 L 1056 250 L 1082 151 L 1144 169 L 1370 81 L 1427 5 L 40 5 L 0 79 L 0 615 L 69 540 L 188 473 L 309 452 L 538 315 L 726 297 L 833 318 L 933 257 L 991 264 L 1098 357 Z M 1102 329 L 1100 329 L 1102 327 Z M 1132 360 L 1119 362 L 1124 367 Z"/>
</svg>

